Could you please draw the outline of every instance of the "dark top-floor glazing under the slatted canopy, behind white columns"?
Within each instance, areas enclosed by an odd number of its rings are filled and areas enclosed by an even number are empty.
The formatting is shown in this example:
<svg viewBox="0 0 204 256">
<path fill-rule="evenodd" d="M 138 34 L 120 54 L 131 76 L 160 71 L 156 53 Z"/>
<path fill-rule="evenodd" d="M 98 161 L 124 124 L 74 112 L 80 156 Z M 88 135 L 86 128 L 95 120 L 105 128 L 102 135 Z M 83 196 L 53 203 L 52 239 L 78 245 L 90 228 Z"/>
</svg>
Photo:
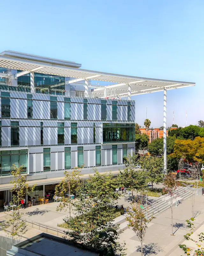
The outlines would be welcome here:
<svg viewBox="0 0 204 256">
<path fill-rule="evenodd" d="M 35 92 L 64 95 L 65 78 L 34 73 Z"/>
</svg>

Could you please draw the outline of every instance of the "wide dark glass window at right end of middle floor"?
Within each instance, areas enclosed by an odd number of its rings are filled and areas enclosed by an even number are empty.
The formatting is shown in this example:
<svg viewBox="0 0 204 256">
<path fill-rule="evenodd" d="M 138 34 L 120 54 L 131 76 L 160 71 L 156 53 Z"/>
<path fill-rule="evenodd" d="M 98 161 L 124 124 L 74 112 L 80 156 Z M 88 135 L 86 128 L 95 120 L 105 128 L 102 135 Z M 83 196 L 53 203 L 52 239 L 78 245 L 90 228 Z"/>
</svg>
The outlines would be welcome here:
<svg viewBox="0 0 204 256">
<path fill-rule="evenodd" d="M 103 143 L 134 141 L 134 124 L 103 124 Z"/>
</svg>

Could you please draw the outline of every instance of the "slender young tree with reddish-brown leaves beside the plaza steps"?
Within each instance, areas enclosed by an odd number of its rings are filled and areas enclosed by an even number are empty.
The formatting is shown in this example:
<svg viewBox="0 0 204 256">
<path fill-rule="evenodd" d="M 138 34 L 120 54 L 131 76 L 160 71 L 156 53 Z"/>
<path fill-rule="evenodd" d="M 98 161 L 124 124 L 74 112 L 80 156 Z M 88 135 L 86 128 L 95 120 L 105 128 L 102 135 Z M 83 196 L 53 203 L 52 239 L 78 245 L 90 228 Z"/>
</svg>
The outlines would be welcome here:
<svg viewBox="0 0 204 256">
<path fill-rule="evenodd" d="M 173 236 L 173 199 L 176 198 L 176 176 L 169 172 L 164 179 L 164 190 L 170 196 L 170 205 L 171 205 L 171 236 Z"/>
</svg>

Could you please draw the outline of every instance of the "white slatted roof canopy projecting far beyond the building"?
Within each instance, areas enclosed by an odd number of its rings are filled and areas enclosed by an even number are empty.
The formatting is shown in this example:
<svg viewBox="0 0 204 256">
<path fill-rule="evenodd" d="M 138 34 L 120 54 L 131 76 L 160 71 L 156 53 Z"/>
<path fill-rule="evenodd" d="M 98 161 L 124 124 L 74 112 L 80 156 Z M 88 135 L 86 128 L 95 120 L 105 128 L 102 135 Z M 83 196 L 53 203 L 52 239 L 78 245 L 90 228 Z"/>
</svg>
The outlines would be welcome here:
<svg viewBox="0 0 204 256">
<path fill-rule="evenodd" d="M 145 93 L 160 92 L 163 91 L 164 88 L 166 88 L 167 90 L 172 90 L 195 85 L 195 83 L 189 82 L 162 80 L 138 76 L 126 76 L 99 71 L 92 71 L 81 68 L 62 66 L 57 63 L 45 63 L 38 60 L 24 59 L 21 57 L 14 58 L 11 56 L 4 55 L 0 55 L 0 67 L 18 69 L 28 72 L 38 70 L 38 72 L 42 74 L 72 77 L 76 79 L 81 78 L 81 80 L 90 79 L 91 77 L 91 80 L 112 83 L 111 85 L 101 86 L 100 88 L 91 90 L 92 96 L 98 98 L 104 98 L 105 90 L 107 97 L 113 97 L 117 95 L 119 97 L 126 97 L 128 96 L 129 85 L 131 86 L 132 96 Z"/>
</svg>

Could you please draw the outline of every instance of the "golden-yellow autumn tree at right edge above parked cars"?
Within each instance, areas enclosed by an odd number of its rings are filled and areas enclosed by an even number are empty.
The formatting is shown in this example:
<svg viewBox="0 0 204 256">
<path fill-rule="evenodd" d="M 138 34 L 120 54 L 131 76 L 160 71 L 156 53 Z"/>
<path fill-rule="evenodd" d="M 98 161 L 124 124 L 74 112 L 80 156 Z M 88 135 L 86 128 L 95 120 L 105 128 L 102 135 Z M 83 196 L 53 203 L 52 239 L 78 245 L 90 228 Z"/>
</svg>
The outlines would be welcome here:
<svg viewBox="0 0 204 256">
<path fill-rule="evenodd" d="M 204 138 L 196 137 L 194 140 L 175 140 L 174 152 L 171 154 L 178 159 L 184 158 L 191 162 L 201 173 L 204 164 Z"/>
</svg>

